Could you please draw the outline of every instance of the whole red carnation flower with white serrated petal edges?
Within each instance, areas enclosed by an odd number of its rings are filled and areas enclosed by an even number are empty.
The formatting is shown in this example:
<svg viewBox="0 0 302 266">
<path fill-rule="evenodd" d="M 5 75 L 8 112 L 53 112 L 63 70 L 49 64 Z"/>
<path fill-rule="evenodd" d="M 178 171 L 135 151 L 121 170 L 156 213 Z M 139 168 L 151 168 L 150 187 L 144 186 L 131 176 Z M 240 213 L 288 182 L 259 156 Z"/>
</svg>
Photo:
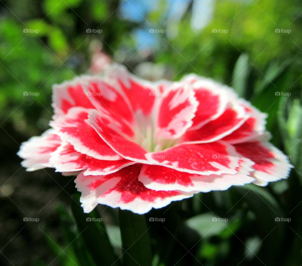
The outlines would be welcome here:
<svg viewBox="0 0 302 266">
<path fill-rule="evenodd" d="M 98 204 L 146 213 L 195 193 L 286 178 L 266 114 L 197 75 L 151 83 L 110 64 L 53 86 L 51 129 L 24 142 L 28 171 L 77 175 L 84 212 Z"/>
</svg>

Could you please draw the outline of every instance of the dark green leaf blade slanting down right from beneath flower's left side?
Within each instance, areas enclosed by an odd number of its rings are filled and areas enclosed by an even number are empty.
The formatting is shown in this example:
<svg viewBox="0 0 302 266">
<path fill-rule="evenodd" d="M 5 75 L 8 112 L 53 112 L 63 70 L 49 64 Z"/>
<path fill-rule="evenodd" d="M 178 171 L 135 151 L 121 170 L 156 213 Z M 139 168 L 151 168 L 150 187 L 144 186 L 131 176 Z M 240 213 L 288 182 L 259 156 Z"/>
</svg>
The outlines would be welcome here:
<svg viewBox="0 0 302 266">
<path fill-rule="evenodd" d="M 73 196 L 71 201 L 71 210 L 79 230 L 80 236 L 83 238 L 95 264 L 112 266 L 117 265 L 113 247 L 109 242 L 109 238 L 100 216 L 96 210 L 91 213 L 84 213 L 81 206 L 77 203 L 78 196 Z M 95 219 L 96 221 L 93 221 Z"/>
</svg>

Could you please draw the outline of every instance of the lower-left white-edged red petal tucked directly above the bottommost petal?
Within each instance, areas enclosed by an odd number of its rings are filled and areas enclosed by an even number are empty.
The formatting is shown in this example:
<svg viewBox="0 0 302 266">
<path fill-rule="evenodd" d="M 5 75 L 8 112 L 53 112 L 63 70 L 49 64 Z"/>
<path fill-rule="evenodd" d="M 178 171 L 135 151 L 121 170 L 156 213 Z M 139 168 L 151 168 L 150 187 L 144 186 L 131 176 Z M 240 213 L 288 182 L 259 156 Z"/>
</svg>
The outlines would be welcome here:
<svg viewBox="0 0 302 266">
<path fill-rule="evenodd" d="M 109 175 L 135 162 L 122 159 L 118 161 L 98 160 L 77 152 L 69 142 L 63 142 L 52 154 L 50 163 L 57 172 L 84 170 L 84 175 Z"/>
</svg>

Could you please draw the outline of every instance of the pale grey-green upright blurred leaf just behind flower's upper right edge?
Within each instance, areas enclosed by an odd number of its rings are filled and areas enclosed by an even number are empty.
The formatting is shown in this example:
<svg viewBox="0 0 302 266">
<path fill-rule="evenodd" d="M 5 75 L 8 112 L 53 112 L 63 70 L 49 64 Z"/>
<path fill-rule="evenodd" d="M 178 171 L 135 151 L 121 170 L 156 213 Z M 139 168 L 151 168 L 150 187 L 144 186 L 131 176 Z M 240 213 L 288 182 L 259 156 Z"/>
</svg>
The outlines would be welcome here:
<svg viewBox="0 0 302 266">
<path fill-rule="evenodd" d="M 251 63 L 246 54 L 241 54 L 235 64 L 232 75 L 232 87 L 239 97 L 246 97 L 248 77 L 251 71 Z"/>
</svg>

